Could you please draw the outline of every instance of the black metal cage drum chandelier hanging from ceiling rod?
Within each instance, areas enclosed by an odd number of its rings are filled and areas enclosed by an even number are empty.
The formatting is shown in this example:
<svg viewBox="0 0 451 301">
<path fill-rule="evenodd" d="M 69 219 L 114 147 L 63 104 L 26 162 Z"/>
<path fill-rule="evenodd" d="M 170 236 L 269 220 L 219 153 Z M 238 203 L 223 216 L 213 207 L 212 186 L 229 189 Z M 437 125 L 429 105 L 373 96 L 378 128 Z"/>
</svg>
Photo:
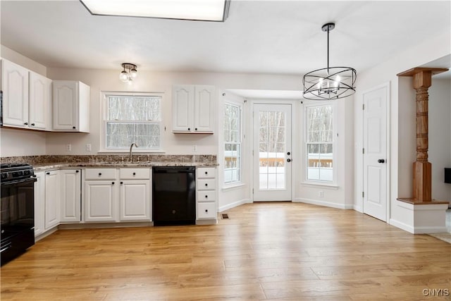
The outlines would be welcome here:
<svg viewBox="0 0 451 301">
<path fill-rule="evenodd" d="M 313 100 L 330 100 L 348 97 L 355 93 L 357 73 L 350 67 L 329 67 L 329 32 L 335 23 L 327 23 L 321 27 L 327 32 L 327 68 L 311 71 L 304 75 L 303 97 Z"/>
</svg>

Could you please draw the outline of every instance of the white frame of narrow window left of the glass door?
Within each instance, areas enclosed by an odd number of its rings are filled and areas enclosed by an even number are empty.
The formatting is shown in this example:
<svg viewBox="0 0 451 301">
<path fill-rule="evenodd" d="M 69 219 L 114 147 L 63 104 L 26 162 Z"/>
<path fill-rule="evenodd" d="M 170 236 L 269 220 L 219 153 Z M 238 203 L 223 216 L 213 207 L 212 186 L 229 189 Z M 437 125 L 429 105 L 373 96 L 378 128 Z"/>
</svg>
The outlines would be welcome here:
<svg viewBox="0 0 451 301">
<path fill-rule="evenodd" d="M 226 137 L 225 135 L 223 136 L 223 154 L 224 154 L 224 161 L 226 161 L 226 145 L 232 143 L 235 145 L 239 146 L 239 154 L 237 154 L 237 158 L 238 158 L 238 164 L 237 164 L 237 168 L 226 168 L 226 164 L 224 164 L 224 168 L 223 168 L 223 188 L 231 188 L 231 187 L 235 187 L 238 185 L 242 185 L 242 147 L 243 147 L 243 125 L 242 125 L 242 118 L 243 118 L 243 104 L 239 103 L 239 102 L 233 102 L 230 100 L 227 100 L 224 102 L 224 111 L 223 111 L 223 133 L 225 132 L 226 128 L 224 126 L 224 123 L 226 121 L 226 106 L 234 106 L 238 109 L 238 113 L 239 113 L 239 117 L 237 118 L 237 122 L 238 122 L 238 133 L 237 133 L 237 138 L 238 138 L 238 142 L 228 142 L 226 141 Z M 226 182 L 226 171 L 229 171 L 230 169 L 237 169 L 237 175 L 238 175 L 238 180 L 232 180 L 230 182 Z"/>
</svg>

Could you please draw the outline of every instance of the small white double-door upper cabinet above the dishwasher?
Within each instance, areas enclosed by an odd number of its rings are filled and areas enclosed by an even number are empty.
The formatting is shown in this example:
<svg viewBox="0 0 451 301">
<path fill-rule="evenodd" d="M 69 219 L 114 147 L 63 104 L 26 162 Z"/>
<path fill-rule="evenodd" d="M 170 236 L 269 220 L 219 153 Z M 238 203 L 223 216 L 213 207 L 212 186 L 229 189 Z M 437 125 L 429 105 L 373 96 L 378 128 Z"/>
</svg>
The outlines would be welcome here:
<svg viewBox="0 0 451 301">
<path fill-rule="evenodd" d="M 174 85 L 173 133 L 214 133 L 215 87 Z"/>
</svg>

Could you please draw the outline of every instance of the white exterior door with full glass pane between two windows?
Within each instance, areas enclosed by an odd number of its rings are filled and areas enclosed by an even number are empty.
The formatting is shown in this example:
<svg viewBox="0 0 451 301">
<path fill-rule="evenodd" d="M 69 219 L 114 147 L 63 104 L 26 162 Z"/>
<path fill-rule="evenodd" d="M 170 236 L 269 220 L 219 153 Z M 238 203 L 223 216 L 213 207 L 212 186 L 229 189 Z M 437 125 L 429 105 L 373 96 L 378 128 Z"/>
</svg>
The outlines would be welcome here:
<svg viewBox="0 0 451 301">
<path fill-rule="evenodd" d="M 254 202 L 291 201 L 291 104 L 254 104 Z"/>
</svg>

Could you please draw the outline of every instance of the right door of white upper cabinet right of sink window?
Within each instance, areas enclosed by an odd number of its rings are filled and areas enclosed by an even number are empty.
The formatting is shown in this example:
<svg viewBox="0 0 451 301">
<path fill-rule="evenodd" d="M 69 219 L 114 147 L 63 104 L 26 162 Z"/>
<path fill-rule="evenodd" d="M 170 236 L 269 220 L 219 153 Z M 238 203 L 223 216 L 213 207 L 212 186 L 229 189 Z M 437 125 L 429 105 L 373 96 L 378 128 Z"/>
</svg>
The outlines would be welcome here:
<svg viewBox="0 0 451 301">
<path fill-rule="evenodd" d="M 213 133 L 214 130 L 214 94 L 213 86 L 195 87 L 194 95 L 194 132 Z"/>
</svg>

